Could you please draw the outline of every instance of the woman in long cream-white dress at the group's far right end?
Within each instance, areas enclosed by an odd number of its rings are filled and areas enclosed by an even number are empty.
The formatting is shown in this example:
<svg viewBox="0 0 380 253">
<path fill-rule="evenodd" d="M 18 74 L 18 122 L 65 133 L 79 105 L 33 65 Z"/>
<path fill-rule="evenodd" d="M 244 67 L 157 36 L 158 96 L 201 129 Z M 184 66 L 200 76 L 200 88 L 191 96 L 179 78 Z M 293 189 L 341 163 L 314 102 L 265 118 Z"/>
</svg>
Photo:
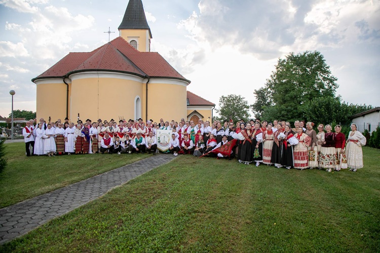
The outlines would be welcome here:
<svg viewBox="0 0 380 253">
<path fill-rule="evenodd" d="M 347 167 L 350 168 L 350 171 L 356 172 L 358 168 L 363 167 L 362 146 L 364 146 L 366 142 L 367 139 L 357 131 L 356 124 L 351 124 L 351 131 L 346 146 Z"/>
</svg>

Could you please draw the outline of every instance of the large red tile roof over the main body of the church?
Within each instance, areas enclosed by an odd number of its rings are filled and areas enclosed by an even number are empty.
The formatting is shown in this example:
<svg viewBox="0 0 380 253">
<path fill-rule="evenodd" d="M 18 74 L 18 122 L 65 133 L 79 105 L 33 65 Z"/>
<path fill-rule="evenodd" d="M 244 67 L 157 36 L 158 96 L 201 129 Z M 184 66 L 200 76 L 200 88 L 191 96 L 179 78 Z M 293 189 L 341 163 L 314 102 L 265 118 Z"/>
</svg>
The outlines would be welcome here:
<svg viewBox="0 0 380 253">
<path fill-rule="evenodd" d="M 108 70 L 138 76 L 173 78 L 187 81 L 159 53 L 139 52 L 124 38 L 117 37 L 88 53 L 69 53 L 32 81 L 63 77 L 75 72 Z"/>
</svg>

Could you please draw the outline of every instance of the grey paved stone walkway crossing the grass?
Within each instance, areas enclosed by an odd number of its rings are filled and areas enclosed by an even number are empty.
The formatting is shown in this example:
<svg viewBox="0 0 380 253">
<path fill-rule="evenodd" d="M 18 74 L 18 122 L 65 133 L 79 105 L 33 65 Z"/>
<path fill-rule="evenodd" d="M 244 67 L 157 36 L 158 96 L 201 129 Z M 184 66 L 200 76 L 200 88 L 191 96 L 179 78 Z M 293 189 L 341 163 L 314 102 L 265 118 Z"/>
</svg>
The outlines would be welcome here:
<svg viewBox="0 0 380 253">
<path fill-rule="evenodd" d="M 69 185 L 56 191 L 0 209 L 0 244 L 26 234 L 40 225 L 94 200 L 154 168 L 173 160 L 158 154 Z"/>
</svg>

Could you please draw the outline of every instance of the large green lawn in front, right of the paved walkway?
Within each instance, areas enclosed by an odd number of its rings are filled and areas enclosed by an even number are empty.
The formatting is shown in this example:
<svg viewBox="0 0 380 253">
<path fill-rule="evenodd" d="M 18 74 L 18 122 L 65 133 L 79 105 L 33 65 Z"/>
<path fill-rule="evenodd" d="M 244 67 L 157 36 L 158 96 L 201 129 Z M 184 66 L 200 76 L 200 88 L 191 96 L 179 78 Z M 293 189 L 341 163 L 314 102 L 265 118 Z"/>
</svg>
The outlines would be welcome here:
<svg viewBox="0 0 380 253">
<path fill-rule="evenodd" d="M 380 150 L 358 172 L 178 156 L 0 251 L 378 252 Z"/>
</svg>

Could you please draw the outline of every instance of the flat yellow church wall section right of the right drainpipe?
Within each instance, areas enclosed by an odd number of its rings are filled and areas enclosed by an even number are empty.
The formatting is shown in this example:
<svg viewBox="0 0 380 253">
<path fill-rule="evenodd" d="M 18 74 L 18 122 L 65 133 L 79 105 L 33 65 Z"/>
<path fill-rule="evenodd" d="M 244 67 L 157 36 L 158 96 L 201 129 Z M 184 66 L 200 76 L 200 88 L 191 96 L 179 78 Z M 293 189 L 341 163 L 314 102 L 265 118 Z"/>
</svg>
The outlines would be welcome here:
<svg viewBox="0 0 380 253">
<path fill-rule="evenodd" d="M 169 82 L 169 83 L 164 83 Z M 143 115 L 145 117 L 145 115 Z M 148 83 L 148 119 L 156 122 L 180 120 L 186 114 L 186 82 L 150 80 Z"/>
</svg>

